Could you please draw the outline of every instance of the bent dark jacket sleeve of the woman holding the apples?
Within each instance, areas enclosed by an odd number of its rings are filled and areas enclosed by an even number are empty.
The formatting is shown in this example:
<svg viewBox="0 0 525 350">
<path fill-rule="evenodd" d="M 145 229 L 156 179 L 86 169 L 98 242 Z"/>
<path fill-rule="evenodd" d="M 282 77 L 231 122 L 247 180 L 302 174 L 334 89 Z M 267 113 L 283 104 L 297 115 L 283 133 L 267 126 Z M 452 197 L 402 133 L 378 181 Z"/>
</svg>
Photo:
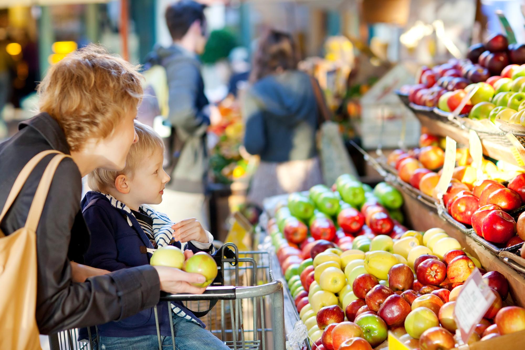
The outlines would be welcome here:
<svg viewBox="0 0 525 350">
<path fill-rule="evenodd" d="M 36 319 L 41 334 L 129 317 L 159 302 L 159 275 L 151 265 L 71 281 L 68 244 L 80 210 L 78 168 L 64 160 L 57 169 L 37 229 Z"/>
</svg>

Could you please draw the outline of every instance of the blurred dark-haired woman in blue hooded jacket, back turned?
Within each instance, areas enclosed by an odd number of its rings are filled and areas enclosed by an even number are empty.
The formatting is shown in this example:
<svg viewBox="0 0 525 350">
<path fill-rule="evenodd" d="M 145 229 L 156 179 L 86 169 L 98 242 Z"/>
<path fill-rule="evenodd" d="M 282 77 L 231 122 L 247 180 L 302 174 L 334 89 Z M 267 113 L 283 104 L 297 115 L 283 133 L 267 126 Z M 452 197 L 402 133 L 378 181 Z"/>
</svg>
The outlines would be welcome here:
<svg viewBox="0 0 525 350">
<path fill-rule="evenodd" d="M 259 40 L 243 101 L 244 145 L 260 164 L 248 200 L 262 205 L 271 195 L 308 190 L 322 182 L 316 150 L 317 81 L 297 70 L 291 35 L 268 30 Z"/>
</svg>

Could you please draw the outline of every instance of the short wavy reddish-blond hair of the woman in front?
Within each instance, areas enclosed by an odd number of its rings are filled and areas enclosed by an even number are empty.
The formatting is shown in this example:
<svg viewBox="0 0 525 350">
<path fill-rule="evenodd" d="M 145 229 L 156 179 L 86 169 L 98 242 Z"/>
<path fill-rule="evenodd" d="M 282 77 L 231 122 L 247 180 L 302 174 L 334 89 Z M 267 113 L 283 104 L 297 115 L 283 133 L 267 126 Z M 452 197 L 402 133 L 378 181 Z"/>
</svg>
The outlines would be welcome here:
<svg viewBox="0 0 525 350">
<path fill-rule="evenodd" d="M 56 119 L 71 151 L 111 135 L 142 99 L 140 66 L 90 44 L 49 68 L 37 88 L 39 111 Z"/>
</svg>

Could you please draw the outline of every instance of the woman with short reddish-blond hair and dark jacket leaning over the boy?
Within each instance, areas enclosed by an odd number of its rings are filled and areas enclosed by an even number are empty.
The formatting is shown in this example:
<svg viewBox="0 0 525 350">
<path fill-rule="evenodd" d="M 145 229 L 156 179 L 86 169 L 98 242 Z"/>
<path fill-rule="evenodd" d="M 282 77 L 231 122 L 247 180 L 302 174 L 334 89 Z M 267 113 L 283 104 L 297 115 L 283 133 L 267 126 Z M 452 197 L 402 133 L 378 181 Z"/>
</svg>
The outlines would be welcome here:
<svg viewBox="0 0 525 350">
<path fill-rule="evenodd" d="M 142 97 L 137 67 L 90 45 L 51 66 L 38 94 L 40 114 L 20 123 L 18 133 L 0 143 L 0 205 L 35 155 L 46 150 L 70 155 L 59 164 L 36 230 L 40 333 L 130 317 L 157 304 L 160 290 L 202 293 L 204 289 L 190 283 L 204 282 L 204 276 L 170 267 L 143 265 L 109 273 L 81 265 L 90 244 L 80 212 L 82 177 L 96 168 L 124 168 L 128 150 L 137 141 L 134 119 Z M 24 227 L 52 157 L 37 164 L 0 222 L 0 231 L 7 236 Z M 9 291 L 10 286 L 3 287 Z M 31 297 L 35 295 L 27 295 L 28 301 Z M 16 322 L 20 315 L 2 315 L 0 334 L 4 336 Z"/>
</svg>

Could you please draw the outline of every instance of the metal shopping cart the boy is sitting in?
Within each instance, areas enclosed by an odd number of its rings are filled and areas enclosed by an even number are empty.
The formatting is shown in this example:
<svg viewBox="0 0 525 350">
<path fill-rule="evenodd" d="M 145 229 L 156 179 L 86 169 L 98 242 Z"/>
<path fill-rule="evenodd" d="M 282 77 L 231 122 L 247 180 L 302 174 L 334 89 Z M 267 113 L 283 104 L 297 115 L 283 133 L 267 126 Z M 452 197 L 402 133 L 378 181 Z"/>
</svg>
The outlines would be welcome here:
<svg viewBox="0 0 525 350">
<path fill-rule="evenodd" d="M 206 324 L 206 329 L 230 349 L 285 349 L 283 287 L 280 281 L 274 280 L 269 253 L 239 252 L 233 243 L 226 243 L 224 247 L 231 248 L 235 258 L 220 259 L 223 286 L 210 286 L 202 295 L 163 295 L 161 302 L 170 304 L 172 301 L 183 301 L 190 310 L 200 312 L 209 308 L 210 301 L 216 301 L 216 306 L 201 320 Z M 156 307 L 154 312 L 157 317 Z M 77 342 L 77 336 L 78 330 L 49 336 L 50 350 L 91 349 L 89 343 Z M 159 349 L 162 349 L 159 322 L 157 336 Z M 173 330 L 172 338 L 175 349 Z"/>
</svg>

